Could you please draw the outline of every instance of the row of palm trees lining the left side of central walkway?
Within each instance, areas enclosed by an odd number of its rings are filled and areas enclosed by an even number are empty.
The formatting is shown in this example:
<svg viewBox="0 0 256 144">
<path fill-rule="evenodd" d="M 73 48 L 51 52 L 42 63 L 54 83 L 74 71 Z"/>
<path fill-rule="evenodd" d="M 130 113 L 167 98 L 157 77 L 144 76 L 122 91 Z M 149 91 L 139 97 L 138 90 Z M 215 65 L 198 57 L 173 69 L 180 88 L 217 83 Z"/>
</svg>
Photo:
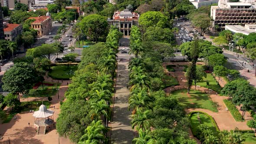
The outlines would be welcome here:
<svg viewBox="0 0 256 144">
<path fill-rule="evenodd" d="M 92 84 L 92 94 L 89 98 L 92 123 L 85 129 L 79 144 L 103 144 L 107 141 L 108 120 L 111 116 L 110 104 L 114 92 L 114 75 L 118 52 L 118 29 L 111 27 L 105 43 L 105 50 L 97 62 L 99 75 Z"/>
</svg>

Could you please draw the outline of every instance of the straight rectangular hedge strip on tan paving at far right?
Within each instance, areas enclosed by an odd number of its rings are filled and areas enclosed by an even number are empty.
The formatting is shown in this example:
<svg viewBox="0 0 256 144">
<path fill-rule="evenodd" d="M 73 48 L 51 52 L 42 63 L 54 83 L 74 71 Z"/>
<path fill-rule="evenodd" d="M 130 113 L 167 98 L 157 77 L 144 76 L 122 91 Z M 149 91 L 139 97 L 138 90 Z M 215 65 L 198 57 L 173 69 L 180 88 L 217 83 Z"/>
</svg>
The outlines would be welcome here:
<svg viewBox="0 0 256 144">
<path fill-rule="evenodd" d="M 224 99 L 223 102 L 225 103 L 226 107 L 236 121 L 243 121 L 243 116 L 239 113 L 238 109 L 236 109 L 236 105 L 234 105 L 232 101 Z"/>
</svg>

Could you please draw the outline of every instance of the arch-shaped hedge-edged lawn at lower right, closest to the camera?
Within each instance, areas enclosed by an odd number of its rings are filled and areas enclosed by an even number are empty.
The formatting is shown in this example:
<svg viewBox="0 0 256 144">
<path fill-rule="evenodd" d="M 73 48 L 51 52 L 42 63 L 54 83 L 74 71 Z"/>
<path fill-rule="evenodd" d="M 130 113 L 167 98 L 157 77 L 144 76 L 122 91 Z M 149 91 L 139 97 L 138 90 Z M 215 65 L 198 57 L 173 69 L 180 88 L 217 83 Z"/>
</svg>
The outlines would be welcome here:
<svg viewBox="0 0 256 144">
<path fill-rule="evenodd" d="M 213 134 L 215 136 L 218 135 L 218 132 L 217 132 L 217 129 L 213 126 L 210 118 L 208 118 L 206 115 L 203 115 L 203 114 L 199 114 L 200 116 L 200 120 L 201 120 L 201 123 L 198 121 L 198 118 L 197 118 L 197 114 L 193 114 L 191 115 L 191 118 L 190 118 L 190 121 L 191 121 L 191 130 L 192 130 L 192 133 L 194 135 L 196 135 L 196 132 L 197 132 L 197 127 L 200 125 L 200 124 L 205 124 L 207 125 L 210 130 L 213 131 Z"/>
</svg>

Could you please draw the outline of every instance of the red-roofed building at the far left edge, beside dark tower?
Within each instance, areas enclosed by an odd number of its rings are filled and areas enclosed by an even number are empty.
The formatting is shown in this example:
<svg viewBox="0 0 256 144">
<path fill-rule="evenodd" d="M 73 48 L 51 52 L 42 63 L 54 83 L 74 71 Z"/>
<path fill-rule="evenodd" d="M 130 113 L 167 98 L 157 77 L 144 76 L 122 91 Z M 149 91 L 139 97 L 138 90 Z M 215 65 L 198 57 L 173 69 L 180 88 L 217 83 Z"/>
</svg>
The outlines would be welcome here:
<svg viewBox="0 0 256 144">
<path fill-rule="evenodd" d="M 4 39 L 14 41 L 23 31 L 23 26 L 20 24 L 3 23 Z"/>
</svg>

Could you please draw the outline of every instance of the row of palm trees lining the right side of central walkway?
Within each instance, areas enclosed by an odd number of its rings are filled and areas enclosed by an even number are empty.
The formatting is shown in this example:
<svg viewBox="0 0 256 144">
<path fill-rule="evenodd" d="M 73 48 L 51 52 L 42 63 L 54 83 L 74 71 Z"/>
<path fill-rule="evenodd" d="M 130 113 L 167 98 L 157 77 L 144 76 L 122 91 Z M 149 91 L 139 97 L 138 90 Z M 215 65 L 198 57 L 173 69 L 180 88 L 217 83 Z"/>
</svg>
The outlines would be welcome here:
<svg viewBox="0 0 256 144">
<path fill-rule="evenodd" d="M 156 144 L 156 140 L 148 135 L 152 127 L 149 115 L 154 98 L 149 94 L 150 80 L 142 67 L 141 59 L 138 58 L 144 49 L 141 43 L 141 33 L 137 26 L 131 28 L 130 49 L 130 53 L 134 54 L 135 58 L 132 58 L 128 65 L 130 70 L 129 85 L 131 86 L 128 110 L 133 110 L 131 127 L 136 128 L 139 132 L 139 137 L 134 138 L 132 143 Z"/>
</svg>

